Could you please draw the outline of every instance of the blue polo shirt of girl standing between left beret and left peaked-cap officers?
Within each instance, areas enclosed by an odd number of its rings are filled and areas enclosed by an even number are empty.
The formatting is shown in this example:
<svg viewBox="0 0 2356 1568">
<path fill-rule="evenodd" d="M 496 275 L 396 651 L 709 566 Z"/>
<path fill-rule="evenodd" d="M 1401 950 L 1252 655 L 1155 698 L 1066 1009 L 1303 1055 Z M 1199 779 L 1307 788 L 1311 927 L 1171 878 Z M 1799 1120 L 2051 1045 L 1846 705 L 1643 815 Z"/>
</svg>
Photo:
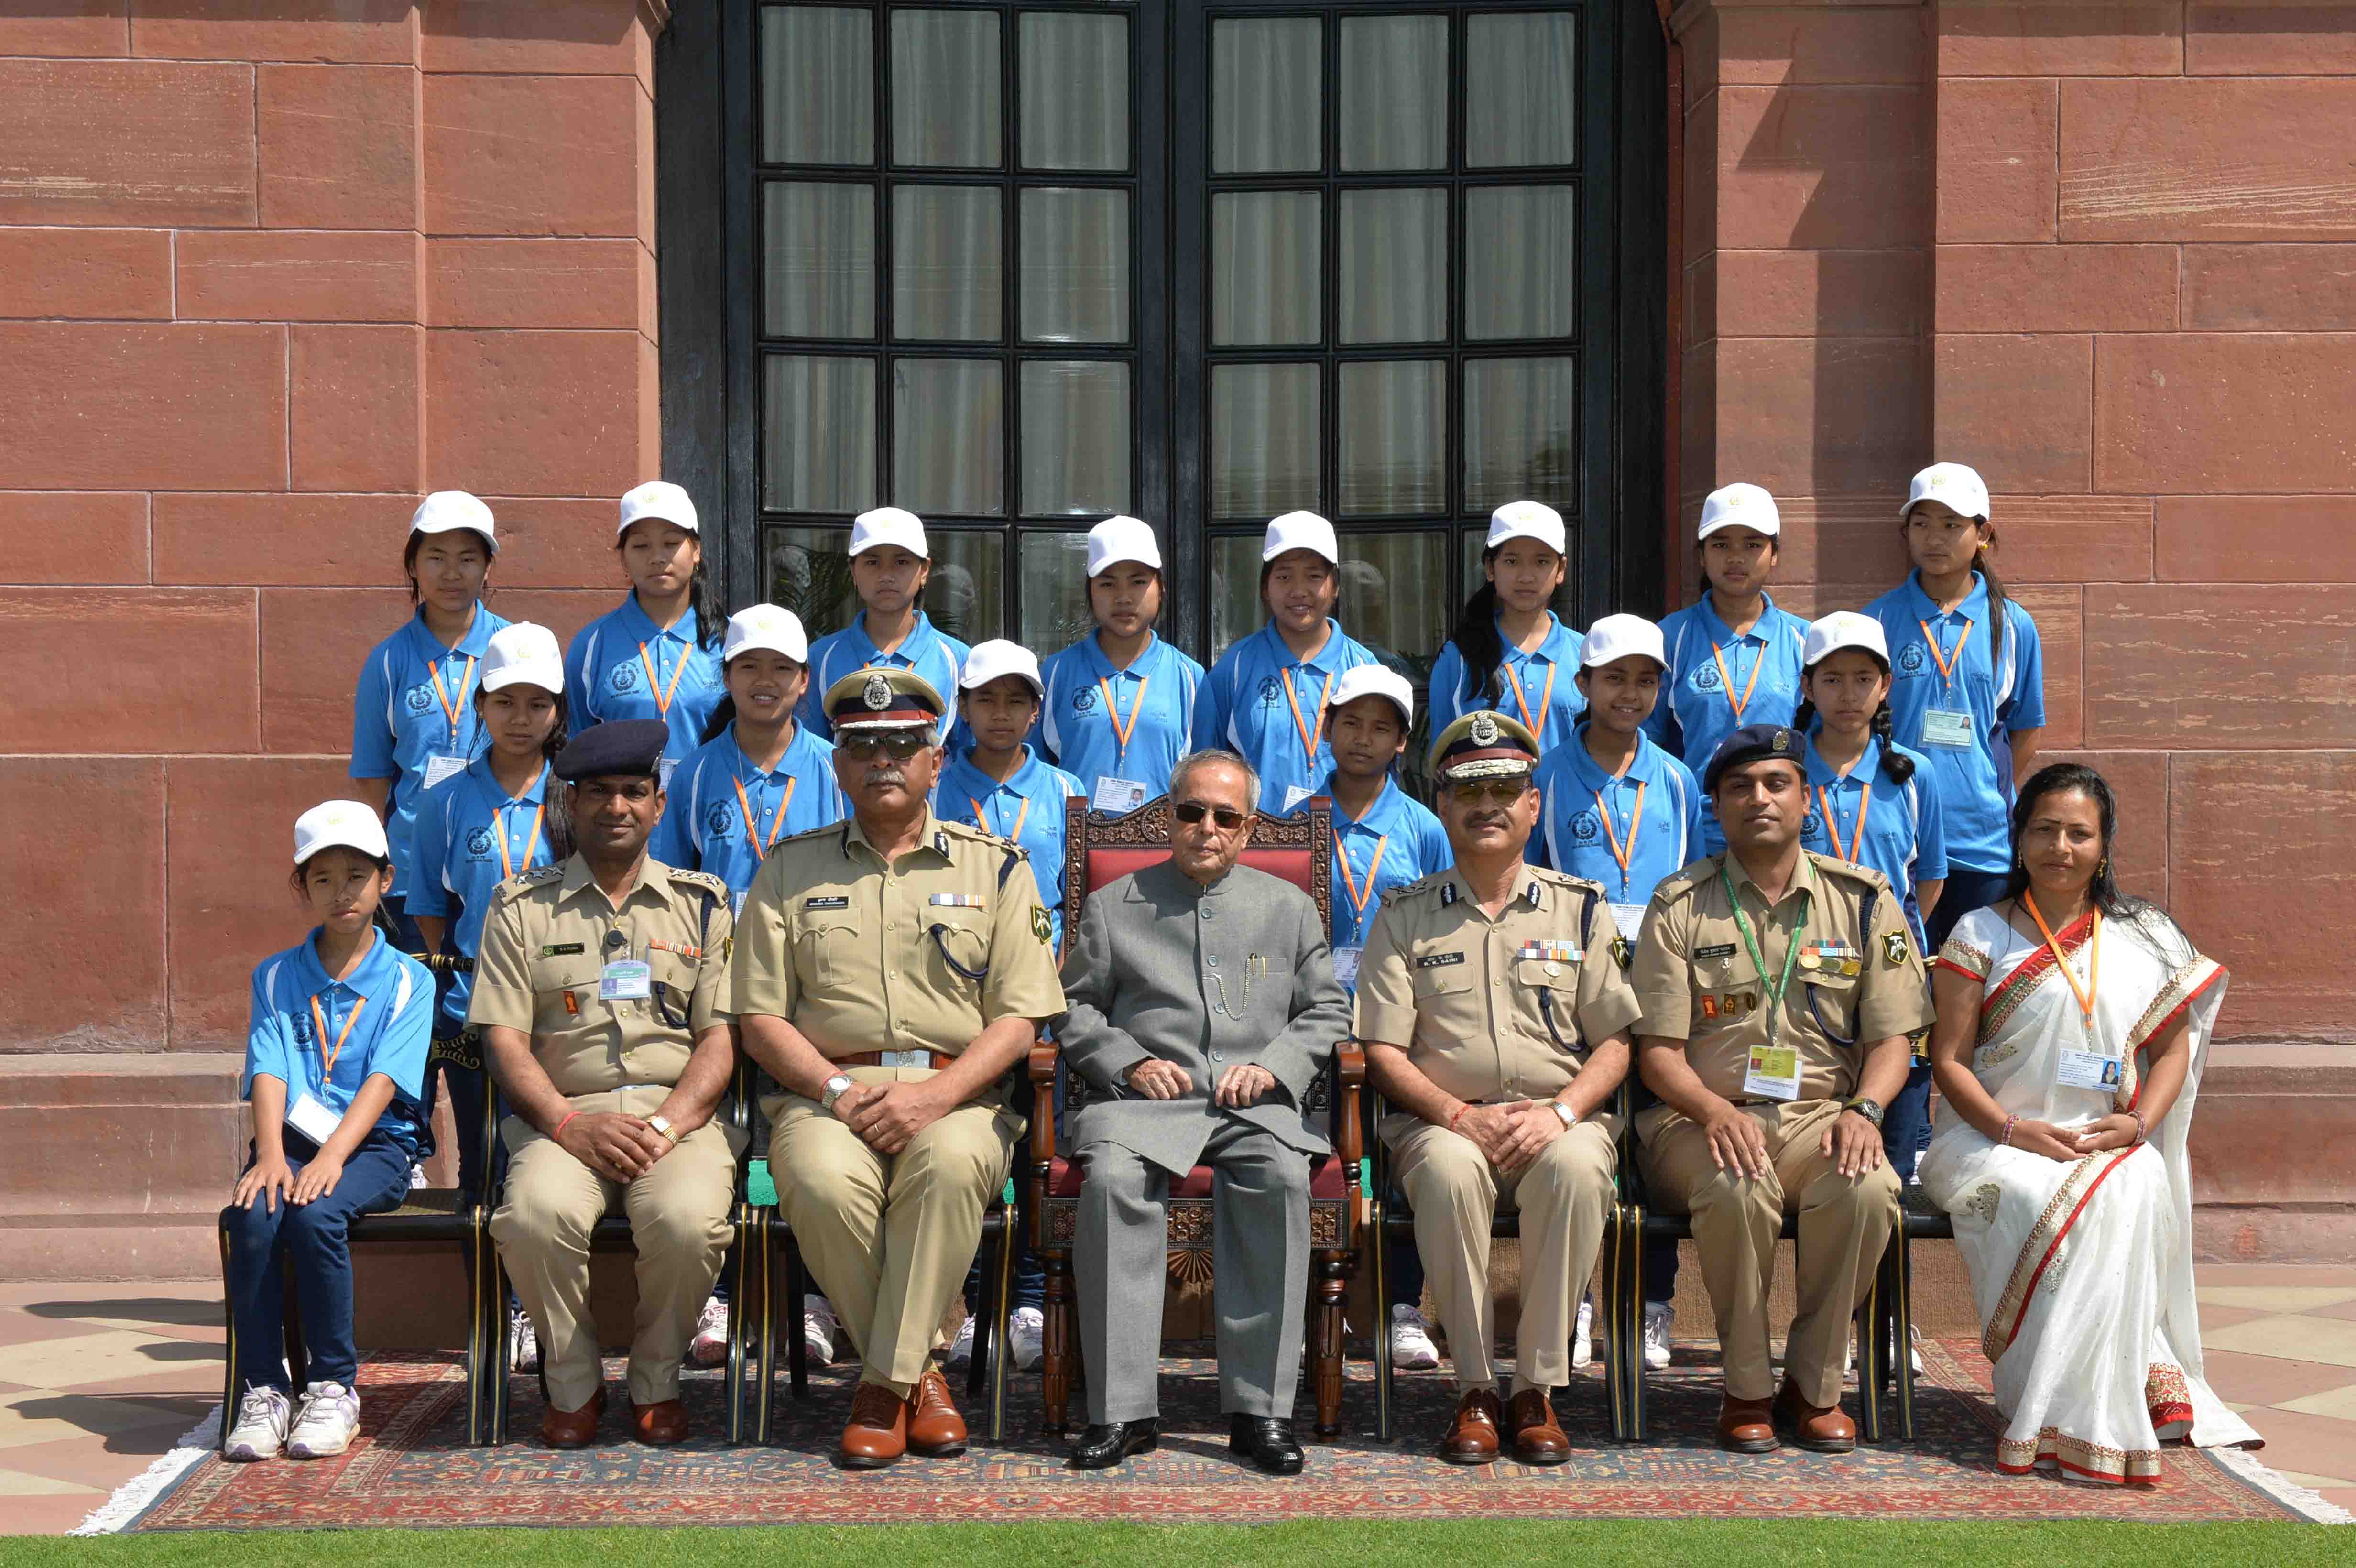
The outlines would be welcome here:
<svg viewBox="0 0 2356 1568">
<path fill-rule="evenodd" d="M 742 798 L 737 796 L 742 789 Z M 728 725 L 671 775 L 671 798 L 648 841 L 648 855 L 681 871 L 709 871 L 728 883 L 730 906 L 744 904 L 752 873 L 770 845 L 794 833 L 841 822 L 843 791 L 834 782 L 834 746 L 803 725 L 777 765 L 763 770 Z M 752 808 L 752 831 L 744 808 Z"/>
</svg>

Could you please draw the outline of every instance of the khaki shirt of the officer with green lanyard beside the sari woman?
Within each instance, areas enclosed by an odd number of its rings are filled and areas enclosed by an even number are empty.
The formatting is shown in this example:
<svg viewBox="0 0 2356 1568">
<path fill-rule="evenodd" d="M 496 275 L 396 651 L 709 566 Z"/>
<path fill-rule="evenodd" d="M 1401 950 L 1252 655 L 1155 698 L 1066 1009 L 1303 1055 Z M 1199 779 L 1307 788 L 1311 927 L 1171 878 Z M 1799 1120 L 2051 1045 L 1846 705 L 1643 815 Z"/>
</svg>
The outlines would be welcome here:
<svg viewBox="0 0 2356 1568">
<path fill-rule="evenodd" d="M 1767 979 L 1734 925 L 1720 862 L 1743 902 Z M 1861 928 L 1868 897 L 1873 930 Z M 1800 1052 L 1800 1099 L 1847 1099 L 1864 1048 L 1932 1019 L 1906 911 L 1880 871 L 1802 850 L 1800 873 L 1774 909 L 1732 852 L 1696 859 L 1661 883 L 1635 944 L 1640 1034 L 1685 1041 L 1713 1095 L 1751 1097 L 1743 1076 L 1751 1048 L 1767 1043 L 1767 982 L 1783 975 L 1795 939 L 1802 946 L 1776 1043 Z"/>
</svg>

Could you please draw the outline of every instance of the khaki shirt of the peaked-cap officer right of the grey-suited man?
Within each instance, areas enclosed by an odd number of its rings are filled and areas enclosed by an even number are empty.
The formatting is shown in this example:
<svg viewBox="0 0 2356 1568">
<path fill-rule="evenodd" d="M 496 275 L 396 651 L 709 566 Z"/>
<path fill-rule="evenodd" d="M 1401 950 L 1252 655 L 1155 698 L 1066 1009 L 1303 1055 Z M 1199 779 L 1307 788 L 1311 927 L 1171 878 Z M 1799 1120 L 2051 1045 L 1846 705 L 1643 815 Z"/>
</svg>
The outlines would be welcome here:
<svg viewBox="0 0 2356 1568">
<path fill-rule="evenodd" d="M 1538 866 L 1522 878 L 1491 918 L 1454 869 L 1425 876 L 1385 892 L 1366 932 L 1357 1036 L 1404 1048 L 1458 1099 L 1550 1099 L 1642 1012 L 1602 888 Z"/>
</svg>

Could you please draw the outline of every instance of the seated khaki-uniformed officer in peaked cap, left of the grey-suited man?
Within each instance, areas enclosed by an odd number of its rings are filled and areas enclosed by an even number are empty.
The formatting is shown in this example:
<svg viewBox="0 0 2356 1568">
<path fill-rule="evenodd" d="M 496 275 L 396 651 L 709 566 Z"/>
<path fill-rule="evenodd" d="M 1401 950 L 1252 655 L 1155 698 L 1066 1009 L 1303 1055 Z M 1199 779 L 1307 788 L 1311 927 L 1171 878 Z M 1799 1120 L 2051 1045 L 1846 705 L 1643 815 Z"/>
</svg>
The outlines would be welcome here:
<svg viewBox="0 0 2356 1568">
<path fill-rule="evenodd" d="M 770 850 L 740 913 L 777 1205 L 865 1358 L 848 1469 L 966 1448 L 933 1349 L 1023 1135 L 1001 1081 L 1063 1012 L 1023 850 L 926 805 L 942 709 L 907 669 L 827 690 L 853 815 Z"/>
</svg>

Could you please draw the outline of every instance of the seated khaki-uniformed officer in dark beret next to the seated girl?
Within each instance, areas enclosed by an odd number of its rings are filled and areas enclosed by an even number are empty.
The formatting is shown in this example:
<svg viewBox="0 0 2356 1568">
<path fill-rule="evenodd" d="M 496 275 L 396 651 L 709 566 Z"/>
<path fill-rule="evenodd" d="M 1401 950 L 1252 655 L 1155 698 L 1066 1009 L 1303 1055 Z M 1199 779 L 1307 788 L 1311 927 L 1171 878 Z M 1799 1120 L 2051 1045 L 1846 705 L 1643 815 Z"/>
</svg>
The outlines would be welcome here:
<svg viewBox="0 0 2356 1568">
<path fill-rule="evenodd" d="M 655 720 L 608 723 L 556 753 L 580 850 L 499 885 L 474 965 L 466 1022 L 511 1111 L 490 1234 L 540 1335 L 551 1448 L 594 1443 L 605 1410 L 596 1222 L 620 1201 L 638 1243 L 629 1401 L 646 1443 L 688 1436 L 679 1361 L 730 1236 L 744 1135 L 714 1109 L 735 1069 L 733 923 L 721 878 L 646 855 L 667 739 Z"/>
</svg>

